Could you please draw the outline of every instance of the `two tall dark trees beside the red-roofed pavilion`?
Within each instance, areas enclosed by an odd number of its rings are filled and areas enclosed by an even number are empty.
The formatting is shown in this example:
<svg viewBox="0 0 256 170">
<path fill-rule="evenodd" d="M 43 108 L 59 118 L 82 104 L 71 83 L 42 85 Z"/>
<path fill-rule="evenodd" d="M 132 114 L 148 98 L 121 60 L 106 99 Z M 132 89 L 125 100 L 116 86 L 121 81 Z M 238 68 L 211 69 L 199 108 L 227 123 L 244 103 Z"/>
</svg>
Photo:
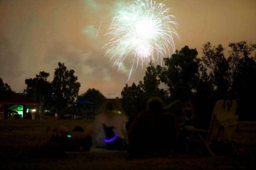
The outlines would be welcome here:
<svg viewBox="0 0 256 170">
<path fill-rule="evenodd" d="M 34 99 L 39 103 L 39 114 L 45 114 L 45 110 L 51 110 L 59 116 L 67 110 L 68 105 L 75 102 L 80 83 L 74 70 L 68 70 L 64 63 L 58 63 L 54 71 L 53 81 L 49 82 L 49 73 L 44 71 L 35 75 L 35 78 L 26 79 L 27 85 L 23 95 Z"/>
</svg>

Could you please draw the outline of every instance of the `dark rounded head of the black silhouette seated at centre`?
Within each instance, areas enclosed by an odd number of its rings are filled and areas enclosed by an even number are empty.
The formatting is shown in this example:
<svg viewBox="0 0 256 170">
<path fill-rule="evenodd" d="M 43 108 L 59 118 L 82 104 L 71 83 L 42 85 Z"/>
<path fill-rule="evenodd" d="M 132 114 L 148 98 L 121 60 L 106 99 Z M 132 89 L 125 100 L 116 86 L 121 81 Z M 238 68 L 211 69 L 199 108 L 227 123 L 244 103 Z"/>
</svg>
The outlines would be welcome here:
<svg viewBox="0 0 256 170">
<path fill-rule="evenodd" d="M 163 101 L 159 97 L 151 97 L 147 101 L 147 110 L 153 113 L 159 113 L 163 110 Z"/>
</svg>

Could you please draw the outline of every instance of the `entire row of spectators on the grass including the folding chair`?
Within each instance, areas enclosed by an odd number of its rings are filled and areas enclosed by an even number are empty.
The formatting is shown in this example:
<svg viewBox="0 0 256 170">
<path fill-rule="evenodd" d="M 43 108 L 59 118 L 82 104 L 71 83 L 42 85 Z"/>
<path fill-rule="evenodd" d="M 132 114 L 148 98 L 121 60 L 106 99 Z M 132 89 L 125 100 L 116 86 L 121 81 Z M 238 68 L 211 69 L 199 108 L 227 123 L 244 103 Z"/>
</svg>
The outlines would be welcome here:
<svg viewBox="0 0 256 170">
<path fill-rule="evenodd" d="M 198 121 L 188 120 L 183 114 L 183 106 L 181 101 L 164 106 L 159 97 L 152 97 L 147 101 L 146 110 L 127 120 L 120 103 L 107 100 L 101 114 L 85 130 L 76 127 L 69 132 L 65 127 L 48 128 L 47 138 L 65 151 L 89 151 L 94 147 L 127 150 L 129 158 L 147 158 L 175 157 L 178 152 L 187 151 L 193 134 L 198 133 L 197 138 L 213 156 L 210 142 L 215 142 L 217 146 L 221 144 L 222 147 L 218 147 L 221 150 L 229 144 L 238 153 L 232 141 L 238 117 L 234 115 L 236 101 L 216 102 L 208 130 L 195 126 Z M 221 137 L 225 139 L 225 144 L 217 142 L 216 139 Z"/>
</svg>

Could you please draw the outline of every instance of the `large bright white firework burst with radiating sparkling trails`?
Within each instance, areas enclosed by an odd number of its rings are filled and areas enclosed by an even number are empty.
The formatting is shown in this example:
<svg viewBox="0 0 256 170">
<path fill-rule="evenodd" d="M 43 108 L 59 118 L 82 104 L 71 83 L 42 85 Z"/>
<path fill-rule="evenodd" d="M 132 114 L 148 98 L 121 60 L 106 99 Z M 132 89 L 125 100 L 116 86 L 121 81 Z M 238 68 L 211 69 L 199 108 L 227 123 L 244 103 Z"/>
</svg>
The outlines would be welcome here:
<svg viewBox="0 0 256 170">
<path fill-rule="evenodd" d="M 170 48 L 175 50 L 174 37 L 180 40 L 176 32 L 178 23 L 175 16 L 170 15 L 170 8 L 164 4 L 156 5 L 152 0 L 136 0 L 128 7 L 121 9 L 114 16 L 105 35 L 110 40 L 104 47 L 108 47 L 105 56 L 111 53 L 116 58 L 113 64 L 118 70 L 125 58 L 132 60 L 128 80 L 131 78 L 133 66 L 153 62 L 160 58 L 161 65 L 164 57 L 170 57 Z M 159 64 L 159 63 L 158 63 Z"/>
</svg>

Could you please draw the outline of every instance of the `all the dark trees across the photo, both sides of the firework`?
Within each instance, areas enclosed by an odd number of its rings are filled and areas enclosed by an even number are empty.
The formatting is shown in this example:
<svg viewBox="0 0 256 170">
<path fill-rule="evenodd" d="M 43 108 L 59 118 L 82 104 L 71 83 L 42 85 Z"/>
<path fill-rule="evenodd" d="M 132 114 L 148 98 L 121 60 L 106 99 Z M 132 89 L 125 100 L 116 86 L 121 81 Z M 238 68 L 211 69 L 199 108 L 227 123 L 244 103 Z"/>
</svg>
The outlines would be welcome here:
<svg viewBox="0 0 256 170">
<path fill-rule="evenodd" d="M 143 81 L 126 86 L 121 92 L 121 103 L 128 116 L 146 109 L 150 97 L 160 97 L 165 104 L 180 99 L 190 101 L 195 107 L 196 118 L 206 120 L 212 113 L 218 99 L 236 99 L 240 120 L 256 120 L 256 44 L 241 41 L 229 44 L 229 56 L 224 55 L 222 45 L 203 45 L 202 57 L 196 49 L 184 46 L 170 58 L 164 58 L 163 67 L 149 63 Z M 89 88 L 78 96 L 80 83 L 74 70 L 68 70 L 64 63 L 58 63 L 53 81 L 49 73 L 41 71 L 35 78 L 26 79 L 23 95 L 39 103 L 39 114 L 75 113 L 72 104 L 84 97 L 94 105 L 91 110 L 99 112 L 105 97 L 99 90 Z M 166 89 L 159 88 L 163 83 Z M 0 78 L 0 91 L 11 91 L 11 87 Z M 72 106 L 70 106 L 71 104 Z M 68 107 L 69 106 L 69 107 Z M 63 116 L 63 115 L 62 115 Z"/>
</svg>

